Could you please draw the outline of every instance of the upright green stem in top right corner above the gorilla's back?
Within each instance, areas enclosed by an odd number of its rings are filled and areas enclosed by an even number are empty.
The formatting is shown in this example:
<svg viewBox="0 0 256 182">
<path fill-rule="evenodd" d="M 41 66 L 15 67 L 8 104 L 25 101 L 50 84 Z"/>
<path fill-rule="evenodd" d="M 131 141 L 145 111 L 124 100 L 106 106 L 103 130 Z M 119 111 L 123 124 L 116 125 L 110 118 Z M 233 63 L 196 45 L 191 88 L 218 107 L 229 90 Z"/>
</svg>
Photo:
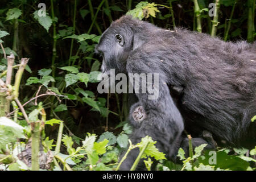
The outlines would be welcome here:
<svg viewBox="0 0 256 182">
<path fill-rule="evenodd" d="M 254 41 L 254 12 L 255 12 L 255 0 L 248 0 L 248 22 L 247 22 L 247 41 L 253 42 Z"/>
</svg>

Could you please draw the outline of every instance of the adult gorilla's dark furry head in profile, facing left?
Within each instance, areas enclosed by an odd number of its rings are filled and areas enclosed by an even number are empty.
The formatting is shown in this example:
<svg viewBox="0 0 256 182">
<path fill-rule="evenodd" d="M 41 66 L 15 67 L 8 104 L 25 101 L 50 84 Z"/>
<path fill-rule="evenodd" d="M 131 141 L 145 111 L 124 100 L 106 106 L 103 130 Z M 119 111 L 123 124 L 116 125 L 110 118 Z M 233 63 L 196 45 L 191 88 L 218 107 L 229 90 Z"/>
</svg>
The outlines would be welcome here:
<svg viewBox="0 0 256 182">
<path fill-rule="evenodd" d="M 122 16 L 115 20 L 101 35 L 95 52 L 102 56 L 101 72 L 110 74 L 110 69 L 116 73 L 126 73 L 126 60 L 134 49 L 140 47 L 147 39 L 150 23 Z"/>
</svg>

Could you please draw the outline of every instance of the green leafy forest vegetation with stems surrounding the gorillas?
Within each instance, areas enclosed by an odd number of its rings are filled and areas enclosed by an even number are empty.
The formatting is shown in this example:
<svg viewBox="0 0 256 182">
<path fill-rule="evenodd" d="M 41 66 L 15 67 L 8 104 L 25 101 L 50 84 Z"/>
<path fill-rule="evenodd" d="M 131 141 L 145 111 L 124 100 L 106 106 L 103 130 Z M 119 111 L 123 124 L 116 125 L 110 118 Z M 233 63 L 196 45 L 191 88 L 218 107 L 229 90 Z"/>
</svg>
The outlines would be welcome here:
<svg viewBox="0 0 256 182">
<path fill-rule="evenodd" d="M 0 2 L 0 170 L 118 170 L 134 148 L 131 170 L 140 161 L 148 170 L 153 161 L 163 171 L 255 170 L 256 147 L 190 146 L 188 157 L 180 148 L 174 164 L 150 136 L 131 143 L 127 95 L 97 93 L 94 55 L 102 32 L 123 14 L 253 42 L 255 0 L 216 0 L 213 17 L 208 0 L 126 2 L 51 0 L 46 9 L 36 0 Z"/>
</svg>

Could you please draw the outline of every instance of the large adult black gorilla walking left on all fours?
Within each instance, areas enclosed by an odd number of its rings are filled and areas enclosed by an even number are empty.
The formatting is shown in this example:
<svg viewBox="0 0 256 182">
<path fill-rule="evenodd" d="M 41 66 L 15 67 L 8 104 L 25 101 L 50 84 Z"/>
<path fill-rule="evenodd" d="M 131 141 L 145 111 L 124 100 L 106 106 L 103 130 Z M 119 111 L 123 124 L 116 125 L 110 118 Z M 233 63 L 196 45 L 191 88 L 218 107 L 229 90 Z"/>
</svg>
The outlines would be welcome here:
<svg viewBox="0 0 256 182">
<path fill-rule="evenodd" d="M 133 143 L 149 135 L 156 147 L 174 159 L 183 131 L 199 137 L 204 130 L 218 144 L 255 146 L 256 43 L 224 42 L 207 34 L 177 28 L 163 30 L 151 23 L 122 16 L 102 34 L 96 52 L 102 72 L 159 73 L 159 97 L 137 94 L 147 119 L 135 125 Z M 183 93 L 174 102 L 172 87 Z M 134 107 L 133 107 L 134 109 Z M 194 146 L 204 139 L 192 140 Z M 183 142 L 184 143 L 184 142 Z M 121 169 L 130 169 L 134 150 Z"/>
</svg>

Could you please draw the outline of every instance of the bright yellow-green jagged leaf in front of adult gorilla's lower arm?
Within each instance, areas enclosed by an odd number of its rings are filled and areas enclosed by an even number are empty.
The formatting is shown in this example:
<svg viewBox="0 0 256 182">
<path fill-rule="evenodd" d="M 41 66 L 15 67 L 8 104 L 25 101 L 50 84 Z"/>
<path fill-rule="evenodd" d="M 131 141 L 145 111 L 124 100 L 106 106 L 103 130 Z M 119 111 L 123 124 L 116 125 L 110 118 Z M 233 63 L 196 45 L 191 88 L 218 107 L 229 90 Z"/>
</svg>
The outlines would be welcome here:
<svg viewBox="0 0 256 182">
<path fill-rule="evenodd" d="M 154 157 L 156 160 L 166 159 L 163 152 L 159 152 L 158 148 L 155 147 L 155 143 L 151 137 L 144 137 L 141 140 L 141 143 L 138 143 L 139 150 L 142 150 L 142 148 L 147 144 L 146 149 L 144 150 L 144 153 L 142 155 L 142 158 L 146 158 L 147 156 Z"/>
</svg>

